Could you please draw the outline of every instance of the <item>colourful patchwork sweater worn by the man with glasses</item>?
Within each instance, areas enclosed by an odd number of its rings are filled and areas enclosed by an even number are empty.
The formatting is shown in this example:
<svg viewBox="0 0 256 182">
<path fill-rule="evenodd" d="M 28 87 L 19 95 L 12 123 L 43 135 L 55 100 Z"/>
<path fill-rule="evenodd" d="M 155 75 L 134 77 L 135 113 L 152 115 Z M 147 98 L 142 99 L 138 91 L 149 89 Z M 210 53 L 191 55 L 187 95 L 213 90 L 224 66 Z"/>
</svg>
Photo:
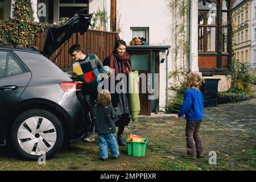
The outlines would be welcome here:
<svg viewBox="0 0 256 182">
<path fill-rule="evenodd" d="M 83 90 L 86 94 L 97 94 L 97 86 L 101 81 L 97 78 L 102 67 L 96 55 L 86 55 L 85 59 L 73 63 L 66 73 L 71 76 L 75 74 L 80 81 L 84 82 Z"/>
</svg>

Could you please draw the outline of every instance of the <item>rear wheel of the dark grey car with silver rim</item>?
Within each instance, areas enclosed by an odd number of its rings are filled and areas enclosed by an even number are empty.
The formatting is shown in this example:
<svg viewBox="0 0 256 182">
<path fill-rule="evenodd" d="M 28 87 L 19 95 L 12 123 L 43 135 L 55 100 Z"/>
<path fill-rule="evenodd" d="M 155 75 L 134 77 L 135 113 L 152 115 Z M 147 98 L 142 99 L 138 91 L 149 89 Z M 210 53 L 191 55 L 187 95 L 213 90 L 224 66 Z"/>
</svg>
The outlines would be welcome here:
<svg viewBox="0 0 256 182">
<path fill-rule="evenodd" d="M 42 154 L 51 158 L 60 150 L 64 130 L 59 118 L 43 109 L 27 110 L 16 118 L 11 128 L 11 144 L 26 160 L 38 160 Z"/>
</svg>

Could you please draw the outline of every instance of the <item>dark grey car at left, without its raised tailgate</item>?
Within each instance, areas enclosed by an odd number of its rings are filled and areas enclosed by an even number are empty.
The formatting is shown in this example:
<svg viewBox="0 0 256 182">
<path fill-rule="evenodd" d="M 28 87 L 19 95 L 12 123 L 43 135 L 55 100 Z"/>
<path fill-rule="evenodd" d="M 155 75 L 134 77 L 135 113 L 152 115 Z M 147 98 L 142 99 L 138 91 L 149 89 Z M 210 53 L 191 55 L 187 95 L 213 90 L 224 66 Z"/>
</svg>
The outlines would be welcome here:
<svg viewBox="0 0 256 182">
<path fill-rule="evenodd" d="M 89 104 L 81 86 L 38 51 L 0 48 L 0 145 L 37 160 L 83 138 Z"/>
</svg>

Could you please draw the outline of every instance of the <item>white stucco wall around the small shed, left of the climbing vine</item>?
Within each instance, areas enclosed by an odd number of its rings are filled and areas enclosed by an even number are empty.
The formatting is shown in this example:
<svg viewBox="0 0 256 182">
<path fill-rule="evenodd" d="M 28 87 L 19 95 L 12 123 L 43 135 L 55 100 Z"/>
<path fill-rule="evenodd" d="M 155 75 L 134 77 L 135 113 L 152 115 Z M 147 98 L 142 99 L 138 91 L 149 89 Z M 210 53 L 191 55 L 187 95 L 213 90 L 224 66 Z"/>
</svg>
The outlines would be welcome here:
<svg viewBox="0 0 256 182">
<path fill-rule="evenodd" d="M 121 15 L 120 38 L 127 44 L 132 39 L 131 27 L 148 27 L 151 45 L 171 45 L 171 14 L 168 0 L 118 0 L 117 11 Z M 118 19 L 117 19 L 118 21 Z M 161 52 L 160 52 L 161 53 Z M 168 57 L 171 67 L 172 53 Z M 166 105 L 166 63 L 160 63 L 159 106 Z"/>
</svg>

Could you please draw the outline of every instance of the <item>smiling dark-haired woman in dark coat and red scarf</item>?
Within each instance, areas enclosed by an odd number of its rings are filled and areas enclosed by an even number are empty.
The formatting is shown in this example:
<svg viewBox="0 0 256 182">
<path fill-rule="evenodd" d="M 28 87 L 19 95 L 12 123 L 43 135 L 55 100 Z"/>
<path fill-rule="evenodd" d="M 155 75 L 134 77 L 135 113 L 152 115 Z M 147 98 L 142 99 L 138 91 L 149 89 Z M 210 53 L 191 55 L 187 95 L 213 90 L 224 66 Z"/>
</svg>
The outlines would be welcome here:
<svg viewBox="0 0 256 182">
<path fill-rule="evenodd" d="M 125 126 L 130 123 L 130 105 L 129 105 L 129 94 L 128 94 L 128 72 L 131 72 L 130 56 L 126 52 L 126 43 L 123 40 L 117 40 L 115 42 L 114 51 L 105 58 L 103 65 L 108 65 L 111 69 L 114 69 L 115 75 L 110 77 L 109 91 L 112 96 L 112 105 L 114 108 L 118 108 L 118 121 L 115 125 L 118 126 L 117 142 L 119 146 L 125 146 L 126 143 L 122 140 L 123 130 Z M 118 73 L 124 73 L 126 75 L 126 81 L 123 80 L 122 76 Z M 122 82 L 123 81 L 123 82 Z M 121 83 L 120 83 L 121 82 Z M 118 84 L 119 83 L 119 84 Z M 111 85 L 117 86 L 122 91 L 110 89 Z"/>
</svg>

